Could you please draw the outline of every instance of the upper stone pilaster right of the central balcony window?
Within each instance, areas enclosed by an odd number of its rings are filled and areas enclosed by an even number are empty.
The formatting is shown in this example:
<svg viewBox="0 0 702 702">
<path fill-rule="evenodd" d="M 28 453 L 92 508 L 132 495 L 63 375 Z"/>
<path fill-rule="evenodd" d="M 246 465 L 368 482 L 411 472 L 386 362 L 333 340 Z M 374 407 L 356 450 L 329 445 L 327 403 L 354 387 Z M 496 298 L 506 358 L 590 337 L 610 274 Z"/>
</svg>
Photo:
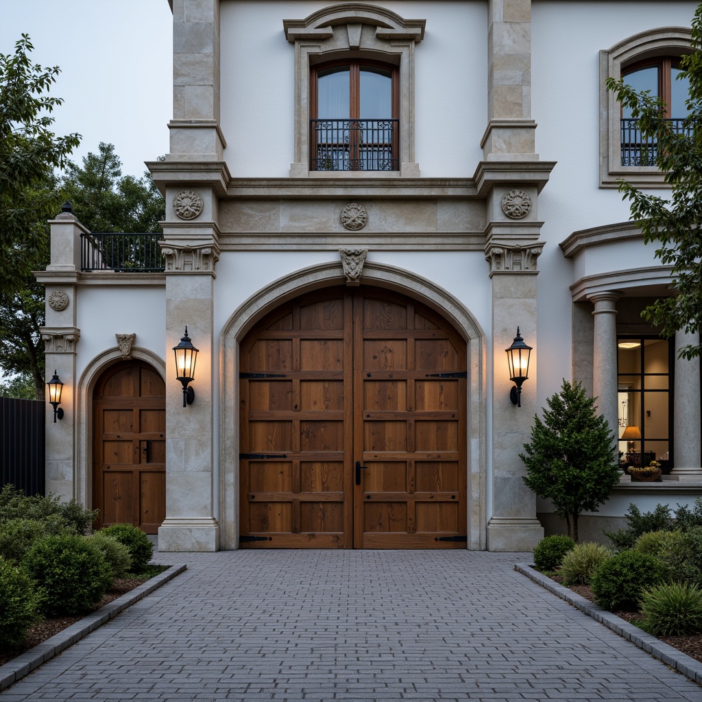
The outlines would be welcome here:
<svg viewBox="0 0 702 702">
<path fill-rule="evenodd" d="M 531 0 L 490 0 L 488 126 L 481 146 L 488 161 L 538 161 L 531 119 Z"/>
</svg>

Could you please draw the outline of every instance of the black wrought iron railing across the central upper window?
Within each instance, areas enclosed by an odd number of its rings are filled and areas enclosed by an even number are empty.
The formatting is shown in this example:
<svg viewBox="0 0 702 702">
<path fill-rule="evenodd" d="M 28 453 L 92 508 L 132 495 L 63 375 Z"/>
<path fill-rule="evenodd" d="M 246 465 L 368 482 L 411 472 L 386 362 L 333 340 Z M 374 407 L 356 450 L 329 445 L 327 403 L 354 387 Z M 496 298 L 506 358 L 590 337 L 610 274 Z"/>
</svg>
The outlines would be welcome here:
<svg viewBox="0 0 702 702">
<path fill-rule="evenodd" d="M 310 119 L 311 171 L 398 171 L 399 120 Z"/>
</svg>

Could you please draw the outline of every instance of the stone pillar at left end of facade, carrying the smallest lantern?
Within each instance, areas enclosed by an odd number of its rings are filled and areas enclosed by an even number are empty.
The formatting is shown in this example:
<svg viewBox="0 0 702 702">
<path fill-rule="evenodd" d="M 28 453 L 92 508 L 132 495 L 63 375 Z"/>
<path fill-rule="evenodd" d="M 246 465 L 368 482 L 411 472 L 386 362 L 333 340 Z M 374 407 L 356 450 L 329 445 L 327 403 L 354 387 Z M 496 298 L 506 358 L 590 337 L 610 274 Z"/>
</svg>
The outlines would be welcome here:
<svg viewBox="0 0 702 702">
<path fill-rule="evenodd" d="M 51 263 L 36 274 L 46 288 L 46 326 L 41 327 L 46 355 L 46 380 L 56 371 L 63 383 L 60 408 L 63 418 L 53 421 L 53 406 L 46 402 L 46 494 L 86 504 L 87 487 L 77 475 L 74 431 L 78 425 L 76 344 L 77 284 L 81 270 L 81 233 L 88 233 L 75 218 L 70 204 L 51 225 Z"/>
</svg>

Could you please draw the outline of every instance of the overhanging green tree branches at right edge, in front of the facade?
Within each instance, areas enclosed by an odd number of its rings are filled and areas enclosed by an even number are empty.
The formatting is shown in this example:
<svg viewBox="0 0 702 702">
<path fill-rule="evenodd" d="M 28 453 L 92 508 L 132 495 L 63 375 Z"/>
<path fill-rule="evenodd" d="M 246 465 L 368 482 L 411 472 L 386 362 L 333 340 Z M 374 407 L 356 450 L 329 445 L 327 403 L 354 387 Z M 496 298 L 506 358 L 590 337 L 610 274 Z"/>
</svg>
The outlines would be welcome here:
<svg viewBox="0 0 702 702">
<path fill-rule="evenodd" d="M 623 80 L 607 79 L 607 89 L 629 107 L 644 138 L 657 145 L 656 166 L 665 173 L 670 197 L 637 190 L 619 179 L 619 191 L 630 201 L 631 218 L 640 222 L 644 241 L 658 244 L 656 257 L 673 266 L 677 295 L 659 298 L 643 316 L 661 327 L 666 338 L 678 329 L 688 333 L 702 328 L 702 5 L 692 22 L 692 47 L 697 50 L 680 60 L 678 78 L 689 79 L 689 114 L 682 128 L 664 119 L 664 103 L 650 91 L 637 92 Z M 680 357 L 699 356 L 702 346 L 689 344 Z"/>
</svg>

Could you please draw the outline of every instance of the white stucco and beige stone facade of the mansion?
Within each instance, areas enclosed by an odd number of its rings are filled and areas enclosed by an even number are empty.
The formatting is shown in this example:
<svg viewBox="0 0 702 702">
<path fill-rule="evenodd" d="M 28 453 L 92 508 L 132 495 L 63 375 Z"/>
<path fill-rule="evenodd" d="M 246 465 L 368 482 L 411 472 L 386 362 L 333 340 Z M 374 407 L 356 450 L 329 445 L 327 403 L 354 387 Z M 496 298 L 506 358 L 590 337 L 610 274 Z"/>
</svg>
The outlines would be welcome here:
<svg viewBox="0 0 702 702">
<path fill-rule="evenodd" d="M 534 414 L 567 378 L 600 395 L 616 425 L 616 336 L 654 337 L 637 314 L 670 294 L 670 271 L 603 175 L 612 119 L 618 128 L 618 116 L 603 117 L 612 112 L 603 61 L 637 34 L 658 32 L 660 44 L 672 27 L 684 42 L 695 7 L 172 0 L 171 152 L 147 164 L 166 197 L 164 272 L 81 270 L 88 232 L 72 213 L 52 223 L 51 265 L 39 279 L 47 300 L 61 291 L 69 304 L 46 310 L 47 368 L 65 383 L 66 411 L 60 426 L 47 425 L 47 490 L 95 506 L 93 393 L 112 364 L 128 360 L 115 334 L 134 333 L 133 359 L 166 388 L 159 547 L 238 548 L 239 344 L 289 300 L 359 283 L 425 305 L 466 345 L 459 536 L 468 548 L 529 549 L 559 529 L 522 482 L 517 454 Z M 314 67 L 364 58 L 397 69 L 398 164 L 311 170 Z M 658 176 L 644 171 L 633 172 L 656 187 Z M 199 200 L 194 216 L 178 204 L 183 194 Z M 515 197 L 527 206 L 510 209 Z M 360 228 L 340 219 L 350 203 L 364 208 Z M 359 280 L 340 249 L 364 260 Z M 185 326 L 199 348 L 187 409 L 171 351 Z M 517 326 L 534 347 L 520 408 L 505 364 Z M 697 423 L 696 448 L 685 454 L 696 462 L 685 459 L 694 465 L 684 479 L 623 479 L 602 519 L 592 517 L 593 534 L 621 522 L 630 502 L 649 509 L 702 494 L 699 398 L 670 390 L 670 416 L 675 407 Z M 666 454 L 682 432 L 670 426 Z"/>
</svg>

